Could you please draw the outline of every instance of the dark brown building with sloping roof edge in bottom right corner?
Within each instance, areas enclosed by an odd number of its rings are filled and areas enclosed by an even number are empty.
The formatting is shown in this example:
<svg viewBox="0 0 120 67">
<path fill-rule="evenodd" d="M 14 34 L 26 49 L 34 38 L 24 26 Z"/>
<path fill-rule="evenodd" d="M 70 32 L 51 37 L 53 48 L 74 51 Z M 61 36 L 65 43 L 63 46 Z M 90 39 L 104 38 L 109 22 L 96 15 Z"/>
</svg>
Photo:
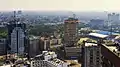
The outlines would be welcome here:
<svg viewBox="0 0 120 67">
<path fill-rule="evenodd" d="M 100 46 L 103 61 L 102 67 L 120 67 L 120 51 L 117 49 L 117 47 L 115 45 L 107 46 L 105 44 Z"/>
</svg>

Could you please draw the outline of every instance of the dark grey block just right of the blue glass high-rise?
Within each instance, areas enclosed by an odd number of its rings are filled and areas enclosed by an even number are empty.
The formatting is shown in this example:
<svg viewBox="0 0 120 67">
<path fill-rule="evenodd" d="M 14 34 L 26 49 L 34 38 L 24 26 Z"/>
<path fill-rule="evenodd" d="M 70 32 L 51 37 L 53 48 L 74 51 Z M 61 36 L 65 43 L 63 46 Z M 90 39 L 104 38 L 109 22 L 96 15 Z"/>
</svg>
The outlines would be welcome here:
<svg viewBox="0 0 120 67">
<path fill-rule="evenodd" d="M 29 57 L 34 57 L 40 53 L 40 40 L 39 37 L 31 36 L 29 37 L 29 47 L 28 47 L 28 54 Z"/>
</svg>

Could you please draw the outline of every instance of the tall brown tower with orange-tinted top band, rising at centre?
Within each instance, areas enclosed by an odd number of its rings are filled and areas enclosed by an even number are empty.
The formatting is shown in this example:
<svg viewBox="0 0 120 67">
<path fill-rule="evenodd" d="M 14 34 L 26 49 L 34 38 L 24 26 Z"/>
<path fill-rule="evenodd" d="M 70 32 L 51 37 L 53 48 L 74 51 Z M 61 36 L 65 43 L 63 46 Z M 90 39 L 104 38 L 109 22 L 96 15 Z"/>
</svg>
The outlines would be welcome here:
<svg viewBox="0 0 120 67">
<path fill-rule="evenodd" d="M 77 38 L 78 19 L 68 18 L 64 22 L 64 43 L 65 46 L 74 46 Z"/>
</svg>

